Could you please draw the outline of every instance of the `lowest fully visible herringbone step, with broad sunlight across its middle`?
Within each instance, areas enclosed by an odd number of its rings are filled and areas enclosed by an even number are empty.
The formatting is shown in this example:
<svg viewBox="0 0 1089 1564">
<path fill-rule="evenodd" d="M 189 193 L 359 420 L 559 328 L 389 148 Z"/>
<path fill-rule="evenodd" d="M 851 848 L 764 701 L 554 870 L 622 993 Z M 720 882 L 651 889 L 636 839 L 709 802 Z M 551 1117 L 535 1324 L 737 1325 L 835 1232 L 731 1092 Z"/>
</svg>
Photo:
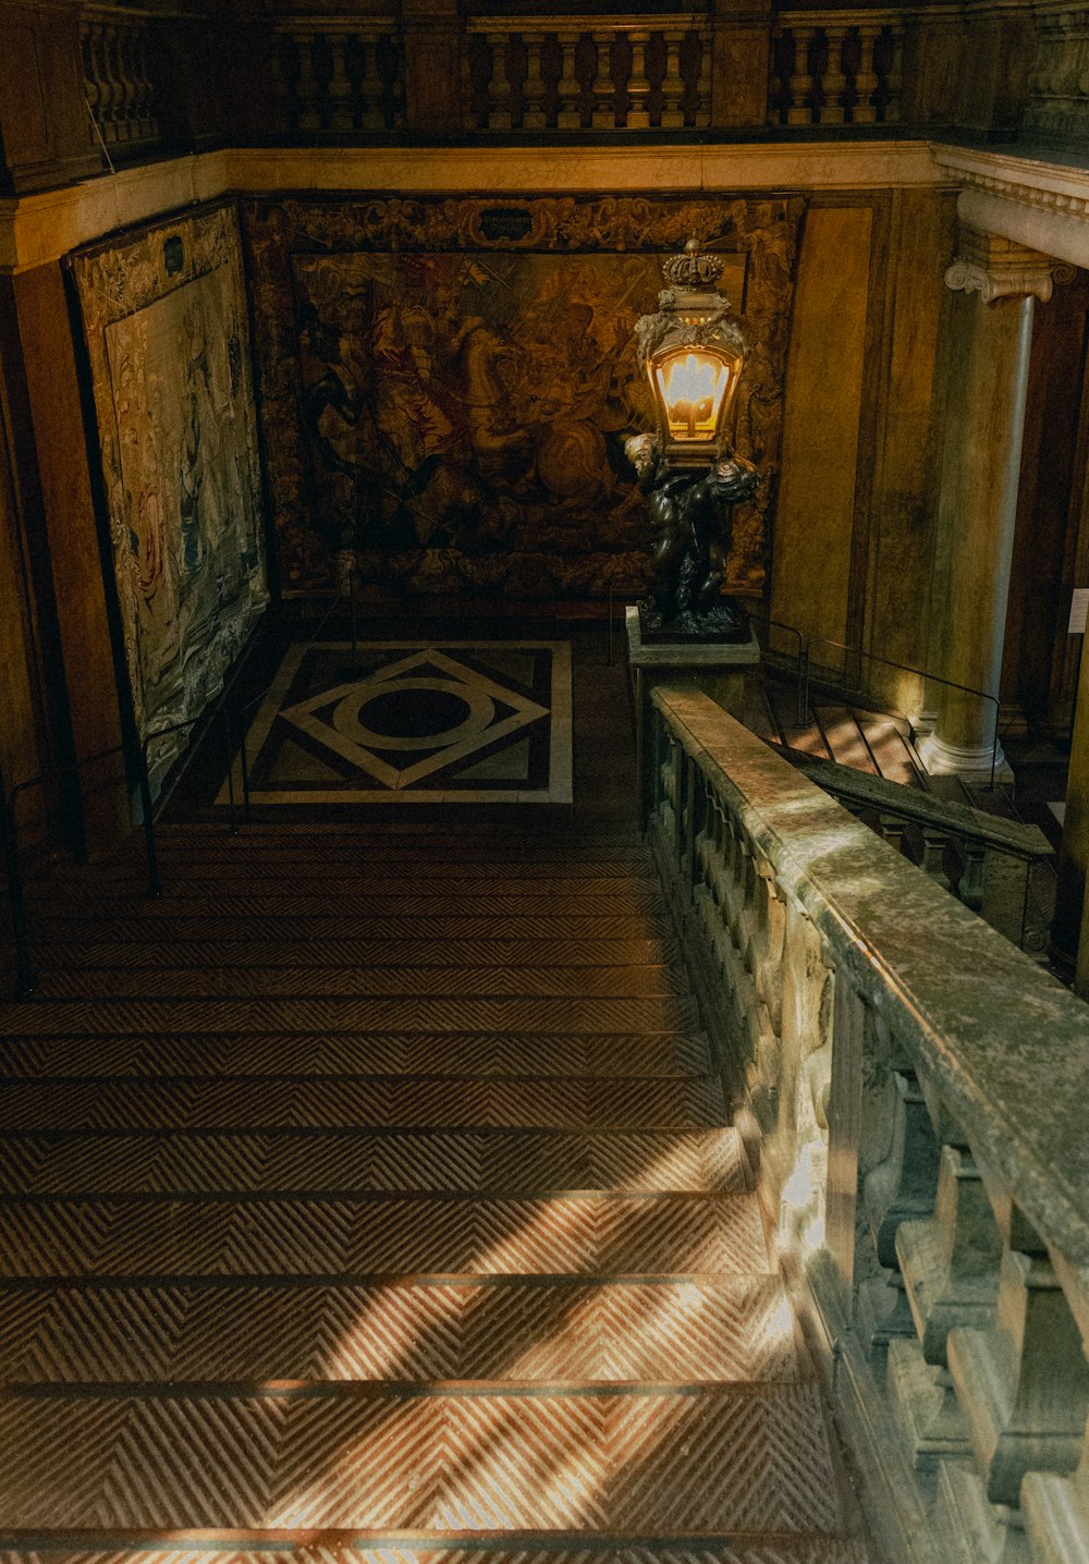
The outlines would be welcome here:
<svg viewBox="0 0 1089 1564">
<path fill-rule="evenodd" d="M 0 1464 L 0 1528 L 16 1533 L 169 1531 L 177 1542 L 196 1530 L 279 1541 L 299 1528 L 385 1528 L 440 1542 L 532 1530 L 540 1545 L 577 1528 L 615 1545 L 640 1534 L 836 1536 L 845 1520 L 812 1384 L 9 1392 Z"/>
</svg>

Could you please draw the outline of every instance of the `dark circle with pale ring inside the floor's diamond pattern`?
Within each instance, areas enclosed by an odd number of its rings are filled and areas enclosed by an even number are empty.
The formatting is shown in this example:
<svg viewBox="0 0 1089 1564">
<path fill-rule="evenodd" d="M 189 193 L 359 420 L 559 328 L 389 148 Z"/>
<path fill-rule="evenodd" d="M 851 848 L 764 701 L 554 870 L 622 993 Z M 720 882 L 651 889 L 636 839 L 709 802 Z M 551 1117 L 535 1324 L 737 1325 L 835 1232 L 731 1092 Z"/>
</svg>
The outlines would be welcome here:
<svg viewBox="0 0 1089 1564">
<path fill-rule="evenodd" d="M 483 732 L 494 713 L 491 698 L 471 685 L 390 679 L 346 694 L 333 712 L 333 727 L 376 749 L 433 749 Z"/>
</svg>

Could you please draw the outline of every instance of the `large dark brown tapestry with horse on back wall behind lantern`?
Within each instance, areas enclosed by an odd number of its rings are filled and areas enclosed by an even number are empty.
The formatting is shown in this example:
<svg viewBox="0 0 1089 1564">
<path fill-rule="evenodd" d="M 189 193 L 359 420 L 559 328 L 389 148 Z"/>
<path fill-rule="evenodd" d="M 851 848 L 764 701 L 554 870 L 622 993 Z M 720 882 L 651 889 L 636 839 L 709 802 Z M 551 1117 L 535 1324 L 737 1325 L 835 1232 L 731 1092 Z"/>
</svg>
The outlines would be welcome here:
<svg viewBox="0 0 1089 1564">
<path fill-rule="evenodd" d="M 759 597 L 800 200 L 244 205 L 282 580 L 637 594 L 649 522 L 623 452 L 652 427 L 632 330 L 698 233 L 753 344 L 737 449 L 765 482 L 728 586 Z"/>
</svg>

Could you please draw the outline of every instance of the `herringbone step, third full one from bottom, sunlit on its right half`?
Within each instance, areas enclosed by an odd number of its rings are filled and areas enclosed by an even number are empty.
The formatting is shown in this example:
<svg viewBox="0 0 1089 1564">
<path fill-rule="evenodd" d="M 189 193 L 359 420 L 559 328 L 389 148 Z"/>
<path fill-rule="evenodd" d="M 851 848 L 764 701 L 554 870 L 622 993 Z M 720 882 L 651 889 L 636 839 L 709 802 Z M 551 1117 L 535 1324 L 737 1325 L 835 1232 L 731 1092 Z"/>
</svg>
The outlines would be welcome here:
<svg viewBox="0 0 1089 1564">
<path fill-rule="evenodd" d="M 0 1204 L 0 1276 L 657 1276 L 770 1270 L 757 1198 L 108 1195 Z M 3 1464 L 0 1462 L 0 1470 Z"/>
</svg>

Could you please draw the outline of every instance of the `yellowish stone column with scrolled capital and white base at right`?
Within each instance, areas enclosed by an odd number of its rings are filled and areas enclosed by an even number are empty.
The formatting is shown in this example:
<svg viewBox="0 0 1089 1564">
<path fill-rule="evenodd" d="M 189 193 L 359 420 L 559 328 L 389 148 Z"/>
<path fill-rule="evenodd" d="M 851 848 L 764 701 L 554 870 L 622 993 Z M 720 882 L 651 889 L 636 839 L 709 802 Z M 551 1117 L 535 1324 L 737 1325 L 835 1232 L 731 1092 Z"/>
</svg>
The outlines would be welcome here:
<svg viewBox="0 0 1089 1564">
<path fill-rule="evenodd" d="M 1058 271 L 1048 255 L 962 227 L 945 274 L 958 299 L 939 496 L 948 561 L 940 671 L 964 688 L 940 690 L 922 751 L 931 771 L 990 771 L 1033 310 L 1051 297 Z M 1001 768 L 1001 749 L 995 759 Z"/>
</svg>

